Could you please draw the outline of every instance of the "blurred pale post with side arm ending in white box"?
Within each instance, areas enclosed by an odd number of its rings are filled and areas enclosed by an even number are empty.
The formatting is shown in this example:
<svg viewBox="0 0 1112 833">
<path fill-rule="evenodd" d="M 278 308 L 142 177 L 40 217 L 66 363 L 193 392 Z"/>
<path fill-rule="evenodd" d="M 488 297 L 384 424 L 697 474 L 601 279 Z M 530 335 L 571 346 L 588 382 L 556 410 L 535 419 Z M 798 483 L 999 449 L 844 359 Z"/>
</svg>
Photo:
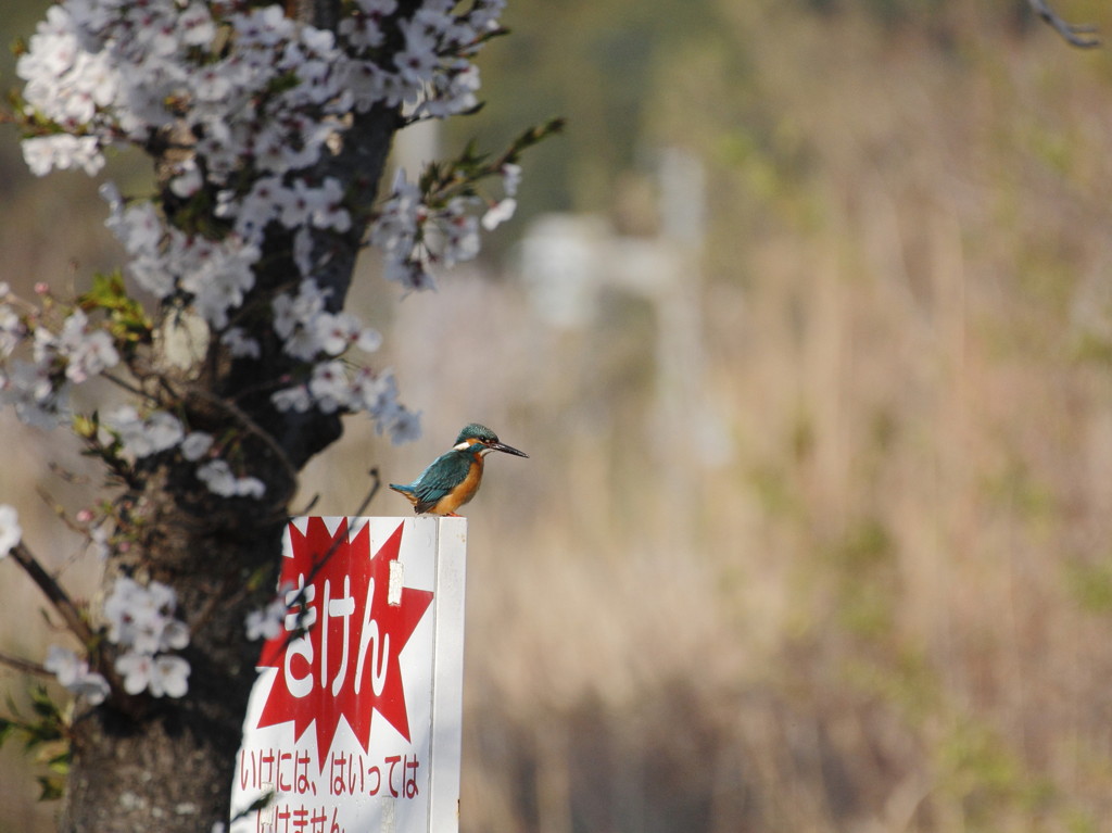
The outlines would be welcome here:
<svg viewBox="0 0 1112 833">
<path fill-rule="evenodd" d="M 522 241 L 522 270 L 538 315 L 556 327 L 587 326 L 604 287 L 653 306 L 656 390 L 645 426 L 647 446 L 659 449 L 656 463 L 669 510 L 691 518 L 699 468 L 725 465 L 731 455 L 705 381 L 706 182 L 698 158 L 676 148 L 661 151 L 656 176 L 661 231 L 655 238 L 614 235 L 597 217 L 549 215 Z M 667 438 L 682 440 L 684 453 L 655 442 Z"/>
</svg>

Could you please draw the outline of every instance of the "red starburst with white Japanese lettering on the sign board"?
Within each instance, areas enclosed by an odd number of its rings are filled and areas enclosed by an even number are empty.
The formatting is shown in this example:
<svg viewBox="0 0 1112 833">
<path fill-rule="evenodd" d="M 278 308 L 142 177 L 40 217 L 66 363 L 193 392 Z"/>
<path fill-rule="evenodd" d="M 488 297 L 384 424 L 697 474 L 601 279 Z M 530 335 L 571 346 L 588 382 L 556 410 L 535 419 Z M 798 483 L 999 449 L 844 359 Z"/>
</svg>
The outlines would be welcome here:
<svg viewBox="0 0 1112 833">
<path fill-rule="evenodd" d="M 403 586 L 398 597 L 388 597 L 403 527 L 398 524 L 371 555 L 368 524 L 351 539 L 346 519 L 331 534 L 319 517 L 309 518 L 304 534 L 289 525 L 294 557 L 284 559 L 280 584 L 296 588 L 287 594 L 287 604 L 300 596 L 307 609 L 291 609 L 287 629 L 262 646 L 259 665 L 278 673 L 258 727 L 292 721 L 299 738 L 316 723 L 321 766 L 341 717 L 365 752 L 373 711 L 410 740 L 398 655 L 433 593 Z M 298 627 L 306 631 L 302 636 L 297 636 Z"/>
</svg>

